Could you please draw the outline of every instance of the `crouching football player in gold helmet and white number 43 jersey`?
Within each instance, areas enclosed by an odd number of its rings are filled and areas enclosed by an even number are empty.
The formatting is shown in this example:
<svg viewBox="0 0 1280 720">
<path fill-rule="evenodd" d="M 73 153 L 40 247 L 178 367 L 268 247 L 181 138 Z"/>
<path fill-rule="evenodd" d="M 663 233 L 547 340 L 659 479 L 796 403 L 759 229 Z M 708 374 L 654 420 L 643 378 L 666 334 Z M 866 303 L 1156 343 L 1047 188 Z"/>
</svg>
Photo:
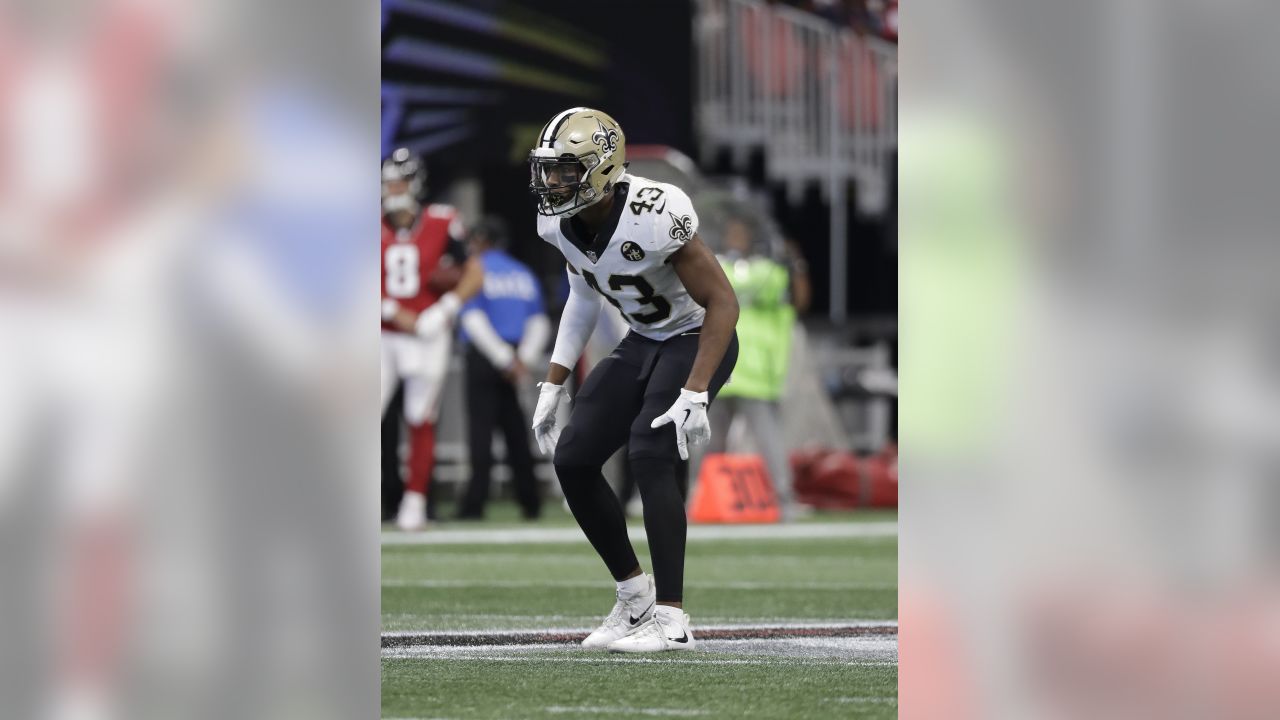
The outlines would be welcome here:
<svg viewBox="0 0 1280 720">
<path fill-rule="evenodd" d="M 737 359 L 737 300 L 698 237 L 698 214 L 678 187 L 626 172 L 626 138 L 605 113 L 557 114 L 530 152 L 538 234 L 564 256 L 570 297 L 534 434 L 573 518 L 617 582 L 617 602 L 584 647 L 617 652 L 691 650 L 682 609 L 685 498 L 677 459 L 707 442 L 707 406 Z M 564 379 L 602 304 L 631 331 L 591 370 L 561 430 Z M 653 578 L 640 569 L 622 506 L 600 468 L 622 445 L 644 500 Z"/>
</svg>

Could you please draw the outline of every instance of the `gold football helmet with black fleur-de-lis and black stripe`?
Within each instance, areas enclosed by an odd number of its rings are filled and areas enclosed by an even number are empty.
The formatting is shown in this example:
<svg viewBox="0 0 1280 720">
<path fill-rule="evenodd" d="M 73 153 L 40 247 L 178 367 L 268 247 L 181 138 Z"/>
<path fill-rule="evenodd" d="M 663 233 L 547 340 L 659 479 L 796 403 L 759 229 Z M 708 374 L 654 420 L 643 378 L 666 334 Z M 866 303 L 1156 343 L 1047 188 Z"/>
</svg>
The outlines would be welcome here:
<svg viewBox="0 0 1280 720">
<path fill-rule="evenodd" d="M 529 154 L 529 190 L 543 215 L 570 218 L 603 200 L 627 163 L 622 127 L 607 113 L 570 108 L 543 126 Z"/>
</svg>

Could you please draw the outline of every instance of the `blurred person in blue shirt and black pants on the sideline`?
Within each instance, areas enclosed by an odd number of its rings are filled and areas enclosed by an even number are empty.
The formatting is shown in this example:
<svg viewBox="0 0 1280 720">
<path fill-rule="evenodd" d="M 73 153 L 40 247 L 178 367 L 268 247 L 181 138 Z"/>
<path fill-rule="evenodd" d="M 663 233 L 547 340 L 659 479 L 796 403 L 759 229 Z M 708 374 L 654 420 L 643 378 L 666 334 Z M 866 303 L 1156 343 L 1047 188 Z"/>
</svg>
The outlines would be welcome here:
<svg viewBox="0 0 1280 720">
<path fill-rule="evenodd" d="M 471 482 L 458 502 L 460 520 L 484 518 L 493 470 L 493 430 L 502 430 L 507 464 L 513 474 L 516 501 L 525 519 L 541 512 L 534 459 L 529 450 L 529 423 L 520 406 L 518 388 L 547 347 L 550 323 L 543 311 L 541 291 L 534 274 L 504 252 L 500 220 L 489 218 L 468 236 L 468 251 L 485 272 L 484 290 L 463 306 L 466 342 L 467 445 Z"/>
</svg>

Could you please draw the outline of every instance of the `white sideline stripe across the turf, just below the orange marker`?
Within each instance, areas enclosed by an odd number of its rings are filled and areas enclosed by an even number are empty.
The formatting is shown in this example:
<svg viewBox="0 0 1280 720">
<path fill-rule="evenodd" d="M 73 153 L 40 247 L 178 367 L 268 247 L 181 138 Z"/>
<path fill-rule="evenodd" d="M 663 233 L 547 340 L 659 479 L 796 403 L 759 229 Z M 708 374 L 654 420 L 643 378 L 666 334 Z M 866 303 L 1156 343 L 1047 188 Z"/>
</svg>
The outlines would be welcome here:
<svg viewBox="0 0 1280 720">
<path fill-rule="evenodd" d="M 644 528 L 630 528 L 632 541 L 644 541 Z M 795 525 L 691 525 L 691 541 L 895 538 L 897 523 L 803 523 Z M 429 529 L 421 533 L 383 532 L 384 546 L 401 544 L 515 544 L 586 542 L 579 528 Z"/>
</svg>

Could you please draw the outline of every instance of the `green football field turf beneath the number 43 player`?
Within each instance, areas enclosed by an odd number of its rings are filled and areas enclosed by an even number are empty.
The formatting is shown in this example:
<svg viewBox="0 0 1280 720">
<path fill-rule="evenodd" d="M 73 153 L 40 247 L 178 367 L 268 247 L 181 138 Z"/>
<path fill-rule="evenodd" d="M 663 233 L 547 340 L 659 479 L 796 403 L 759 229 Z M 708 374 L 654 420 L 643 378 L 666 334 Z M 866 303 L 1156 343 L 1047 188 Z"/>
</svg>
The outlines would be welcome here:
<svg viewBox="0 0 1280 720">
<path fill-rule="evenodd" d="M 383 717 L 896 717 L 896 512 L 691 525 L 699 646 L 636 656 L 571 642 L 613 605 L 572 519 L 494 510 L 384 532 Z"/>
</svg>

